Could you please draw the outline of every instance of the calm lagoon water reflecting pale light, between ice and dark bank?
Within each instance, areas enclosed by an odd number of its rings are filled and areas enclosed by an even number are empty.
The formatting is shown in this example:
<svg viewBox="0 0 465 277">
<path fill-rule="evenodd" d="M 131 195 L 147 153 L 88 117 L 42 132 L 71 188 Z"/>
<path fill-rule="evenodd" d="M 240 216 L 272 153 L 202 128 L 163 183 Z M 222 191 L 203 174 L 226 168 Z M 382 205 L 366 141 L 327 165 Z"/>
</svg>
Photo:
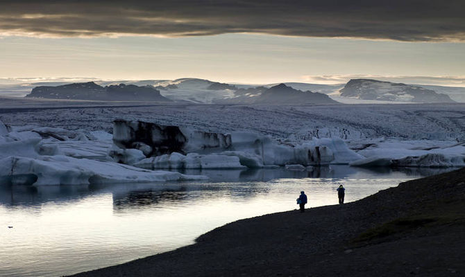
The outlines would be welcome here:
<svg viewBox="0 0 465 277">
<path fill-rule="evenodd" d="M 442 170 L 211 170 L 210 181 L 105 186 L 0 184 L 0 276 L 62 276 L 169 251 L 246 217 L 346 202 Z M 12 227 L 12 228 L 9 228 Z"/>
</svg>

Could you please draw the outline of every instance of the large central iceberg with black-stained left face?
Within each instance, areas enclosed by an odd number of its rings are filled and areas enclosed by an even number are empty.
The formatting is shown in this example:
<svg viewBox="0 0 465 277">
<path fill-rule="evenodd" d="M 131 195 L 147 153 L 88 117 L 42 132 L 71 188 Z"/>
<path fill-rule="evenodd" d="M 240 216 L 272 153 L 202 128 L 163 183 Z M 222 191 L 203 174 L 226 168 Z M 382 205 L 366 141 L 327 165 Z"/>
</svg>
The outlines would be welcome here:
<svg viewBox="0 0 465 277">
<path fill-rule="evenodd" d="M 113 134 L 115 145 L 121 149 L 146 150 L 143 153 L 149 160 L 135 163 L 142 168 L 321 166 L 363 159 L 348 149 L 342 139 L 314 139 L 301 145 L 285 145 L 253 132 L 219 134 L 122 119 L 115 120 Z M 120 152 L 124 154 L 123 150 Z M 201 156 L 189 157 L 194 153 Z M 210 159 L 208 164 L 204 163 L 207 159 Z"/>
</svg>

